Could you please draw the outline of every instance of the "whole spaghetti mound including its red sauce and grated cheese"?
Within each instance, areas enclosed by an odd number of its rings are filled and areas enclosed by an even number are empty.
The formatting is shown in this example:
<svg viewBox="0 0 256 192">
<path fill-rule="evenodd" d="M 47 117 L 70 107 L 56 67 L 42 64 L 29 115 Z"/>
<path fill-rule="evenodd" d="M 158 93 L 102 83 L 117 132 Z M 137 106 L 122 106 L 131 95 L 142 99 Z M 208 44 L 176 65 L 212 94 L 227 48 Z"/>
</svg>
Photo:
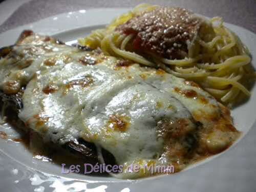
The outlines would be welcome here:
<svg viewBox="0 0 256 192">
<path fill-rule="evenodd" d="M 181 8 L 141 4 L 78 41 L 193 80 L 226 104 L 250 96 L 243 83 L 246 74 L 254 75 L 249 52 L 220 17 L 206 20 Z"/>
</svg>

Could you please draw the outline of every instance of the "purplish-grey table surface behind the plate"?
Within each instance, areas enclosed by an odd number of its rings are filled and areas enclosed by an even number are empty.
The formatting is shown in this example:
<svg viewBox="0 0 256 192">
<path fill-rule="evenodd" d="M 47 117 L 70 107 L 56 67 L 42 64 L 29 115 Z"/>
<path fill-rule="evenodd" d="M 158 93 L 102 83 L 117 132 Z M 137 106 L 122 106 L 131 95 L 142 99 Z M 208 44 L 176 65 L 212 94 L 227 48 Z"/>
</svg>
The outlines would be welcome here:
<svg viewBox="0 0 256 192">
<path fill-rule="evenodd" d="M 20 25 L 29 24 L 36 20 L 46 18 L 59 13 L 77 11 L 81 9 L 102 7 L 134 7 L 145 1 L 111 1 L 111 0 L 32 0 L 18 7 L 13 14 L 0 26 L 0 33 Z M 20 5 L 18 0 L 6 0 L 0 3 L 0 14 L 2 10 Z M 12 2 L 11 5 L 10 2 Z M 255 0 L 158 0 L 146 1 L 150 4 L 164 6 L 178 6 L 190 9 L 196 13 L 212 17 L 221 16 L 225 22 L 235 24 L 256 33 L 256 1 Z M 2 6 L 3 5 L 3 6 Z M 3 12 L 3 11 L 2 11 Z"/>
</svg>

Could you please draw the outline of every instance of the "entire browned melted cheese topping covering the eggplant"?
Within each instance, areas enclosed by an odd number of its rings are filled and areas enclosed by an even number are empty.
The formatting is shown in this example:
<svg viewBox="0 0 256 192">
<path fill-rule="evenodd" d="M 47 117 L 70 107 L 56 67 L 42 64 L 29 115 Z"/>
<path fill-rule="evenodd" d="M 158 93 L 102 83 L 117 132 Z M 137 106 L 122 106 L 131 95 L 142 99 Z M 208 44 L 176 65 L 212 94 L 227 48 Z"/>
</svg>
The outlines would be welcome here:
<svg viewBox="0 0 256 192">
<path fill-rule="evenodd" d="M 34 46 L 17 46 L 13 53 Z M 123 165 L 153 161 L 183 166 L 196 160 L 185 157 L 197 150 L 198 142 L 202 152 L 219 153 L 238 136 L 224 107 L 193 82 L 51 42 L 37 44 L 36 51 L 45 47 L 52 49 L 40 54 L 32 50 L 20 60 L 15 57 L 14 63 L 10 55 L 3 58 L 0 88 L 8 91 L 6 82 L 17 82 L 15 92 L 26 85 L 18 116 L 46 140 L 64 144 L 83 138 Z"/>
</svg>

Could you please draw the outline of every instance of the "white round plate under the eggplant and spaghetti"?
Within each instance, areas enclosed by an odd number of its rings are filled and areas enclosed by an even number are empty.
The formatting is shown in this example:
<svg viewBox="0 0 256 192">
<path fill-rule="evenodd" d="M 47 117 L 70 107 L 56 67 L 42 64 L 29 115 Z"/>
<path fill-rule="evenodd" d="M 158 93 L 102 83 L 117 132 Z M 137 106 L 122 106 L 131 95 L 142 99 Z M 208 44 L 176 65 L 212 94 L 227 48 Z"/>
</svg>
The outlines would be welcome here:
<svg viewBox="0 0 256 192">
<path fill-rule="evenodd" d="M 92 9 L 49 17 L 0 34 L 0 47 L 14 44 L 24 29 L 53 35 L 71 43 L 88 35 L 91 30 L 103 27 L 125 11 L 127 9 Z M 225 26 L 236 32 L 252 57 L 256 57 L 256 35 L 238 26 Z M 255 60 L 252 63 L 256 66 Z M 0 139 L 0 186 L 5 191 L 256 191 L 256 130 L 250 130 L 255 125 L 254 109 L 256 89 L 252 90 L 247 103 L 231 112 L 234 125 L 243 131 L 243 138 L 224 153 L 174 175 L 133 181 L 81 174 L 63 175 L 60 166 L 33 160 L 32 154 L 22 144 Z M 3 130 L 11 131 L 0 127 L 0 131 Z"/>
</svg>

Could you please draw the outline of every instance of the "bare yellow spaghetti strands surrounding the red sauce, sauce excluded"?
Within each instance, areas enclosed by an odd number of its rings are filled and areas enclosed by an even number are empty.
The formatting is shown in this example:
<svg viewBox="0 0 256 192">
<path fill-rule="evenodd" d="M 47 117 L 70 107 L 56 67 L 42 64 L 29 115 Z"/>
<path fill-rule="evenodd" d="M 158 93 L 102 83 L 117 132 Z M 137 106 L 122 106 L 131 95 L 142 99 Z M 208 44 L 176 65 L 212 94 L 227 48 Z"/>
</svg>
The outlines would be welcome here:
<svg viewBox="0 0 256 192">
<path fill-rule="evenodd" d="M 79 43 L 93 49 L 100 47 L 106 55 L 130 59 L 145 66 L 161 68 L 177 77 L 194 80 L 223 103 L 233 102 L 240 93 L 250 95 L 240 82 L 248 74 L 247 66 L 251 61 L 248 49 L 236 34 L 223 26 L 221 17 L 209 20 L 211 24 L 206 28 L 212 28 L 214 33 L 202 30 L 195 38 L 194 46 L 188 46 L 187 52 L 180 50 L 180 59 L 140 54 L 133 50 L 135 34 L 115 31 L 117 26 L 143 11 L 152 11 L 157 7 L 141 4 L 115 18 L 105 29 L 92 31 L 88 37 L 79 39 Z"/>
</svg>

